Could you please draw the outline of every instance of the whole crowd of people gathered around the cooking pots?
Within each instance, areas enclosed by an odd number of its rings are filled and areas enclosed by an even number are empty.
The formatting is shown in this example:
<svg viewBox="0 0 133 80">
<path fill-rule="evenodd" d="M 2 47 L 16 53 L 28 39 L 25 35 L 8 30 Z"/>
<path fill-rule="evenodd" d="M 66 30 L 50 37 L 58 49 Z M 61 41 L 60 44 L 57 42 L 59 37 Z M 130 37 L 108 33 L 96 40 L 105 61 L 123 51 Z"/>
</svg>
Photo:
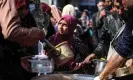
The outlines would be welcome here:
<svg viewBox="0 0 133 80">
<path fill-rule="evenodd" d="M 44 39 L 53 46 L 67 42 L 74 55 L 57 66 L 60 55 L 55 54 L 61 51 L 51 50 L 46 43 L 44 54 L 55 59 L 54 71 L 91 73 L 94 70 L 88 66 L 93 59 L 107 59 L 110 42 L 122 27 L 121 35 L 112 43 L 116 52 L 95 79 L 106 79 L 122 63 L 131 67 L 133 0 L 99 0 L 97 8 L 98 11 L 89 17 L 87 9 L 81 12 L 72 4 L 61 9 L 39 0 L 1 0 L 0 80 L 30 80 L 37 76 L 25 70 L 28 65 L 22 58 L 37 55 L 38 42 L 45 43 Z"/>
</svg>

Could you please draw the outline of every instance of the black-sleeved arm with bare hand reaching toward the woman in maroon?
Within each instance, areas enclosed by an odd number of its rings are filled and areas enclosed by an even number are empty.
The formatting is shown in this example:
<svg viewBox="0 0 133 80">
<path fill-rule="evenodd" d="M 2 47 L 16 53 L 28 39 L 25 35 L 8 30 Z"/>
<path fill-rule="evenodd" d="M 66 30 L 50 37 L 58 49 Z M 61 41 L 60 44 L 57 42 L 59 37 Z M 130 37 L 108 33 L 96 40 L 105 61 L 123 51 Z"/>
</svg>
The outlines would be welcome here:
<svg viewBox="0 0 133 80">
<path fill-rule="evenodd" d="M 96 56 L 98 58 L 105 57 L 105 55 L 106 55 L 105 53 L 107 53 L 107 51 L 108 51 L 109 42 L 111 40 L 110 37 L 109 37 L 108 29 L 106 27 L 108 25 L 106 21 L 105 21 L 105 23 L 104 23 L 104 25 L 102 27 L 101 36 L 100 36 L 100 42 L 98 43 L 98 46 L 93 51 L 93 53 L 91 55 L 89 55 L 83 61 L 83 64 L 90 63 L 90 60 L 95 58 Z"/>
</svg>

